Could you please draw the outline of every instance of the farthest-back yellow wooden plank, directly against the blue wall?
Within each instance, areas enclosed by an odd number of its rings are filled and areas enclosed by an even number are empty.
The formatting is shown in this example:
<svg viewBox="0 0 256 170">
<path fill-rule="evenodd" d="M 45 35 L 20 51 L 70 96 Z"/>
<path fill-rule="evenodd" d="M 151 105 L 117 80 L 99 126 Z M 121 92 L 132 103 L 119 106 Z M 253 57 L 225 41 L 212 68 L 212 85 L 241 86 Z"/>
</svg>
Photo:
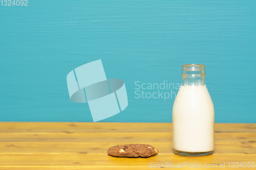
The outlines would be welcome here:
<svg viewBox="0 0 256 170">
<path fill-rule="evenodd" d="M 256 132 L 256 124 L 215 124 L 216 133 Z M 172 123 L 1 122 L 0 133 L 172 132 Z"/>
</svg>

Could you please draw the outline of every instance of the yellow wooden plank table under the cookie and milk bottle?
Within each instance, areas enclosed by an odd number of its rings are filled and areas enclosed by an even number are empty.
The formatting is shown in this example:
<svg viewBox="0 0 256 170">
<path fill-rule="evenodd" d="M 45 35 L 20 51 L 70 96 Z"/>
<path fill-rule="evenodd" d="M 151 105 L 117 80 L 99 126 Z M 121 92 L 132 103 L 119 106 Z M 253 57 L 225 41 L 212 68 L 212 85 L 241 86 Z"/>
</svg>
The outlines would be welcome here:
<svg viewBox="0 0 256 170">
<path fill-rule="evenodd" d="M 166 162 L 188 162 L 191 166 L 217 164 L 215 169 L 223 169 L 220 164 L 224 162 L 225 168 L 229 168 L 229 162 L 256 163 L 256 124 L 215 124 L 215 132 L 214 154 L 185 157 L 172 151 L 170 123 L 2 122 L 0 169 L 155 169 L 149 168 L 150 162 L 155 167 Z M 125 143 L 148 143 L 159 154 L 115 158 L 106 153 L 109 147 Z"/>
</svg>

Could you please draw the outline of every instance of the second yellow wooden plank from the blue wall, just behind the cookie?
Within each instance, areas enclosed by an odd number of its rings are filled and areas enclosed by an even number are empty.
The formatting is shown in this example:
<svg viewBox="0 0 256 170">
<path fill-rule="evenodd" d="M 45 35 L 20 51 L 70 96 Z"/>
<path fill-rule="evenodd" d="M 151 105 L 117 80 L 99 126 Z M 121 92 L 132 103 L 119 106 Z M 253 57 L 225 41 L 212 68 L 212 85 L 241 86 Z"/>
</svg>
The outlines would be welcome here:
<svg viewBox="0 0 256 170">
<path fill-rule="evenodd" d="M 0 142 L 172 142 L 172 133 L 0 133 Z M 216 143 L 255 143 L 256 133 L 216 133 Z"/>
</svg>

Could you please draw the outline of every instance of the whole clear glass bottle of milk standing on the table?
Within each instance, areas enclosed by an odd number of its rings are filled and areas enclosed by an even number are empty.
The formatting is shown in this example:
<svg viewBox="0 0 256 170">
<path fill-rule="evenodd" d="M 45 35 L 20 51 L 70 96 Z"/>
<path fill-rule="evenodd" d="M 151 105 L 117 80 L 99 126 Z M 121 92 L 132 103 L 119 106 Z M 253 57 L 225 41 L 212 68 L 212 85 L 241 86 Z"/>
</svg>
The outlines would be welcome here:
<svg viewBox="0 0 256 170">
<path fill-rule="evenodd" d="M 184 156 L 214 151 L 214 105 L 203 64 L 182 65 L 182 84 L 173 106 L 173 149 Z"/>
</svg>

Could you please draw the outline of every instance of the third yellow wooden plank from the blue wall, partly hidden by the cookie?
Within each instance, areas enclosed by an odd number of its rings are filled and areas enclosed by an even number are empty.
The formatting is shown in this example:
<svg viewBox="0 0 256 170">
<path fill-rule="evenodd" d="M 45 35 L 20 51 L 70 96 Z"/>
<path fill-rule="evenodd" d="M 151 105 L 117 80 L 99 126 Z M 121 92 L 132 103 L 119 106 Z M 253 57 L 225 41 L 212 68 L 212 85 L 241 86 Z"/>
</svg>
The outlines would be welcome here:
<svg viewBox="0 0 256 170">
<path fill-rule="evenodd" d="M 127 143 L 0 142 L 0 154 L 106 154 L 110 147 Z M 159 154 L 174 154 L 173 143 L 148 143 Z M 256 143 L 216 143 L 214 154 L 256 154 Z"/>
</svg>

